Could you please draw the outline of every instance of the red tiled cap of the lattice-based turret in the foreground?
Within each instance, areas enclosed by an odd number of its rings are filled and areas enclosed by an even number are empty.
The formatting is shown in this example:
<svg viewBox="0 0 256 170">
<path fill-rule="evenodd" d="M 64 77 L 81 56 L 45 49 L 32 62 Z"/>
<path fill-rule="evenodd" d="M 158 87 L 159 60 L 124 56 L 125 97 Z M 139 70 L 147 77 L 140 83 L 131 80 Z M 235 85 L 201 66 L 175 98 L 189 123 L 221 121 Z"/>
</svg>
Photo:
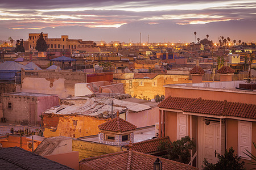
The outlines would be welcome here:
<svg viewBox="0 0 256 170">
<path fill-rule="evenodd" d="M 112 120 L 105 122 L 104 124 L 98 125 L 98 129 L 100 130 L 108 130 L 115 132 L 125 132 L 130 130 L 135 130 L 137 126 L 123 120 L 122 118 L 115 117 Z"/>
</svg>

